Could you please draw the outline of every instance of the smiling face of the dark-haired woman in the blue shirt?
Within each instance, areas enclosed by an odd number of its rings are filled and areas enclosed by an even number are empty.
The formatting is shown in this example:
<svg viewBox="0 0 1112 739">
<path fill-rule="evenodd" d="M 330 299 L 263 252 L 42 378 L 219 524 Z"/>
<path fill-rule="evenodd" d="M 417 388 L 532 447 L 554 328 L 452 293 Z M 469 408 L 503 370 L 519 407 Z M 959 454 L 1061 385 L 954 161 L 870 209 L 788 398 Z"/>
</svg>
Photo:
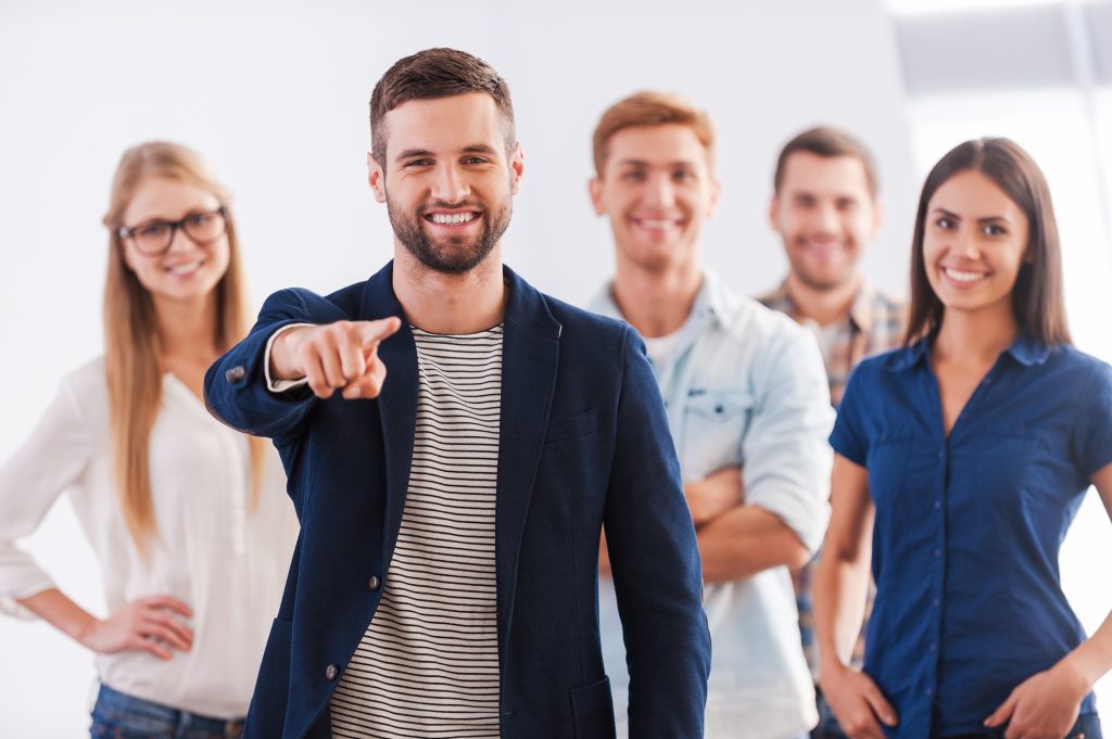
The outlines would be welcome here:
<svg viewBox="0 0 1112 739">
<path fill-rule="evenodd" d="M 923 261 L 945 309 L 1010 314 L 1027 228 L 1022 209 L 985 174 L 964 170 L 943 182 L 927 203 Z"/>
</svg>

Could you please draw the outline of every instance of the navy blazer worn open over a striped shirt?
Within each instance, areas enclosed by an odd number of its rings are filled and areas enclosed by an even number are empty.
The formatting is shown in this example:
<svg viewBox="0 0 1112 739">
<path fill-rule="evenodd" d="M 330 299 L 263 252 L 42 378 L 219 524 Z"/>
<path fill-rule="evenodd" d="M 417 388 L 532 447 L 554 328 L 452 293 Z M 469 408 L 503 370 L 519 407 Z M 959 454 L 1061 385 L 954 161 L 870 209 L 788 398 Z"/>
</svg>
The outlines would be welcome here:
<svg viewBox="0 0 1112 739">
<path fill-rule="evenodd" d="M 209 368 L 212 412 L 271 437 L 301 533 L 247 718 L 255 739 L 329 737 L 329 699 L 375 615 L 401 522 L 417 352 L 393 263 L 321 298 L 284 290 Z M 495 548 L 503 739 L 614 736 L 598 636 L 606 526 L 629 662 L 631 736 L 703 736 L 711 641 L 695 532 L 664 406 L 626 323 L 537 292 L 508 268 Z M 381 395 L 266 388 L 288 323 L 401 319 Z"/>
</svg>

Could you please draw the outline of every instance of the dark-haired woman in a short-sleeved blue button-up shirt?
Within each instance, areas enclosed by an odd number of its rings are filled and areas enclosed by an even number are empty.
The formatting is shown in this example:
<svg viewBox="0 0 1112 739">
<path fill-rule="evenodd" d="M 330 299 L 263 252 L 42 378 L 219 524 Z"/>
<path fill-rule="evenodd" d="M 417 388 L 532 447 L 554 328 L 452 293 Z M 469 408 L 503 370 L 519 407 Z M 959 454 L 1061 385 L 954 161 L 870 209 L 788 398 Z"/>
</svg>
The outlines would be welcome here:
<svg viewBox="0 0 1112 739">
<path fill-rule="evenodd" d="M 1086 639 L 1058 556 L 1090 483 L 1112 512 L 1112 369 L 1071 346 L 1050 193 L 1015 143 L 963 143 L 927 176 L 905 346 L 860 366 L 831 443 L 815 618 L 843 729 L 1099 739 L 1112 620 Z"/>
</svg>

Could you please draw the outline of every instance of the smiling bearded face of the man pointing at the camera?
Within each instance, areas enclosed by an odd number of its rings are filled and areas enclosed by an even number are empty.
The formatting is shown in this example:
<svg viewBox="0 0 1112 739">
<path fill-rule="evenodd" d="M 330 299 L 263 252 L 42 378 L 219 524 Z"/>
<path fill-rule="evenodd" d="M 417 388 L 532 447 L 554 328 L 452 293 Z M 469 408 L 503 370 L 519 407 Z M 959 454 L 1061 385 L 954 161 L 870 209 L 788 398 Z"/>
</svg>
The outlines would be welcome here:
<svg viewBox="0 0 1112 739">
<path fill-rule="evenodd" d="M 475 92 L 410 100 L 385 123 L 386 166 L 368 157 L 369 181 L 397 241 L 429 270 L 476 268 L 509 226 L 524 170 L 516 143 L 507 153 L 494 99 Z"/>
</svg>

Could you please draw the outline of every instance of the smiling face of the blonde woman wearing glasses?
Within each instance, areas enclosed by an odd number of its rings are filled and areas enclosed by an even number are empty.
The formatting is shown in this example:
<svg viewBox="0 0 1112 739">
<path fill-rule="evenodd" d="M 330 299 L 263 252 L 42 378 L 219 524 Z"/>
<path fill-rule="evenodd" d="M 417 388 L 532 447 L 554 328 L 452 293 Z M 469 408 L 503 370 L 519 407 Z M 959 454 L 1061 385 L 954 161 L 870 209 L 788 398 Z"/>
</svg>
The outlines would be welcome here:
<svg viewBox="0 0 1112 739">
<path fill-rule="evenodd" d="M 123 210 L 122 222 L 129 228 L 152 221 L 175 222 L 219 207 L 217 197 L 203 188 L 166 177 L 147 177 Z M 207 299 L 228 270 L 231 251 L 226 233 L 198 244 L 180 227 L 170 248 L 161 254 L 142 253 L 131 238 L 122 240 L 122 250 L 125 263 L 156 302 Z"/>
</svg>

